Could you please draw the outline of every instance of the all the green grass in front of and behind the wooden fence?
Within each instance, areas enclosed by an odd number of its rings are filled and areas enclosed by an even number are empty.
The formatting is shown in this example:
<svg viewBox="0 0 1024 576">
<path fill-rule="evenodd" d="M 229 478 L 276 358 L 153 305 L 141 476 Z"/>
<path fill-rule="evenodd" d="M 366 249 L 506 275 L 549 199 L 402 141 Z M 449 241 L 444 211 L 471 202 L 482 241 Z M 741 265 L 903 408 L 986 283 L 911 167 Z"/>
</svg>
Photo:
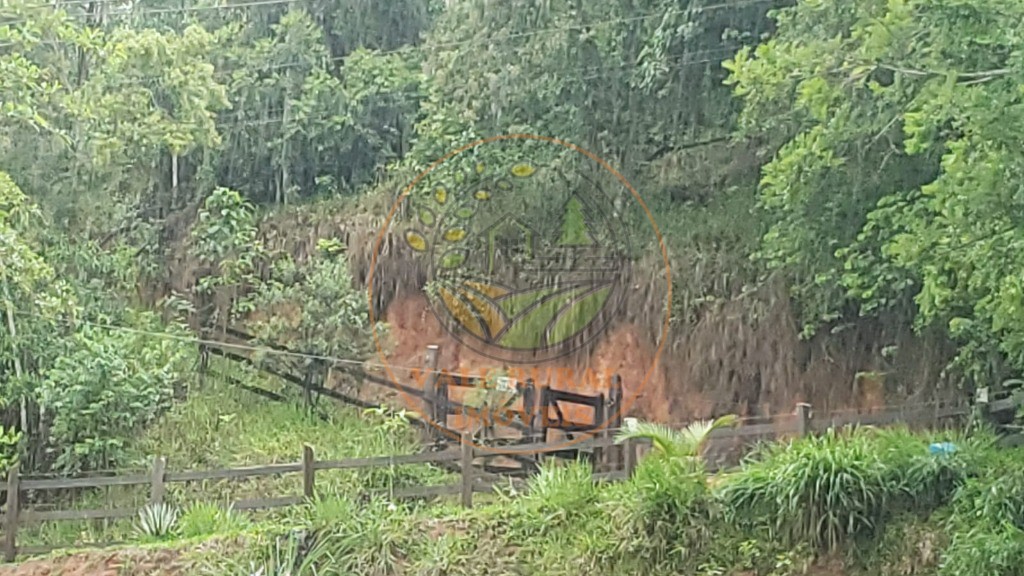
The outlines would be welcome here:
<svg viewBox="0 0 1024 576">
<path fill-rule="evenodd" d="M 170 445 L 178 463 L 205 458 L 230 466 L 294 461 L 310 440 L 330 458 L 408 453 L 417 444 L 414 430 L 394 420 L 328 413 L 324 422 L 214 383 L 133 449 L 144 461 L 155 447 Z M 938 440 L 959 450 L 930 455 L 929 443 Z M 1024 451 L 990 441 L 843 430 L 773 445 L 716 482 L 672 458 L 645 458 L 632 479 L 616 484 L 594 484 L 588 464 L 562 462 L 546 466 L 524 490 L 480 495 L 472 509 L 452 499 L 387 496 L 388 486 L 453 481 L 426 466 L 318 475 L 314 500 L 256 516 L 217 504 L 297 494 L 298 479 L 211 483 L 174 492 L 181 516 L 163 542 L 135 534 L 131 522 L 79 523 L 87 528 L 78 530 L 146 546 L 191 542 L 189 574 L 211 576 L 249 576 L 260 567 L 284 574 L 285 566 L 298 567 L 292 576 L 795 576 L 821 558 L 842 560 L 844 576 L 1017 576 L 1024 566 Z M 370 488 L 385 490 L 365 497 Z M 145 496 L 116 494 L 122 505 Z M 98 493 L 76 503 L 110 505 Z M 35 538 L 74 540 L 74 525 L 54 523 L 63 528 Z M 199 542 L 209 539 L 230 543 L 202 552 Z"/>
</svg>

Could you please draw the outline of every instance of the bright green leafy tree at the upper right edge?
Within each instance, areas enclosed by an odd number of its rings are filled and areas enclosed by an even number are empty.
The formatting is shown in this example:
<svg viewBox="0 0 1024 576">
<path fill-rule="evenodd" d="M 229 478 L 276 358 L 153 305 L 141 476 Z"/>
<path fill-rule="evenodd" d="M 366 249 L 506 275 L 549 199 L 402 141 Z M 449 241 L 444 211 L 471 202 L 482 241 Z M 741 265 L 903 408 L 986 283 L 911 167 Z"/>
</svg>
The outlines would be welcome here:
<svg viewBox="0 0 1024 576">
<path fill-rule="evenodd" d="M 791 280 L 808 332 L 852 305 L 945 329 L 975 380 L 1002 377 L 1000 356 L 1024 367 L 1010 104 L 1024 68 L 1006 56 L 1021 49 L 1024 9 L 825 1 L 775 20 L 728 66 L 744 129 L 778 148 L 759 255 Z"/>
</svg>

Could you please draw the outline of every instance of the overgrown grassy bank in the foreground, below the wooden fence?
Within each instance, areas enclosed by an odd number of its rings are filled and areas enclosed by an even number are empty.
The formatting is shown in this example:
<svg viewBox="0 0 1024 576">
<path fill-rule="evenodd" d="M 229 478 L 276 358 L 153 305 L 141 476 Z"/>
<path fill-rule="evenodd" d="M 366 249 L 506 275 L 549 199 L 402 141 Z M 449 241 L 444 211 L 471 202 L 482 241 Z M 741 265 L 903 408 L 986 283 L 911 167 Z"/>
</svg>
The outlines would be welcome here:
<svg viewBox="0 0 1024 576">
<path fill-rule="evenodd" d="M 956 451 L 931 454 L 938 440 Z M 551 466 L 468 510 L 339 489 L 275 518 L 208 521 L 205 539 L 194 512 L 162 544 L 108 558 L 167 554 L 167 574 L 211 576 L 1015 576 L 1022 456 L 980 433 L 840 430 L 766 447 L 714 482 L 654 452 L 629 482 Z"/>
</svg>

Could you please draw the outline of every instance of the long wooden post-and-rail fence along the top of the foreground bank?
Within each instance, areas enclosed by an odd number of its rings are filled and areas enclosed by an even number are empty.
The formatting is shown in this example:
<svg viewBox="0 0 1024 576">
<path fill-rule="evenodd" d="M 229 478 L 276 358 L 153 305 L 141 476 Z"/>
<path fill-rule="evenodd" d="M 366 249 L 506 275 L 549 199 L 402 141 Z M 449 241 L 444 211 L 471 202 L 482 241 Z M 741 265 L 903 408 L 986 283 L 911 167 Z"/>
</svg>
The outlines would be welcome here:
<svg viewBox="0 0 1024 576">
<path fill-rule="evenodd" d="M 745 419 L 733 428 L 715 430 L 709 439 L 709 465 L 712 469 L 721 468 L 728 463 L 734 463 L 735 455 L 741 453 L 753 442 L 786 437 L 804 436 L 822 431 L 831 426 L 846 424 L 884 425 L 893 422 L 935 424 L 941 419 L 963 416 L 963 408 L 940 409 L 938 407 L 922 409 L 899 409 L 872 414 L 829 414 L 823 418 L 814 418 L 811 407 L 800 404 L 793 414 L 771 418 L 769 421 L 756 423 L 756 419 Z M 583 442 L 575 442 L 572 450 L 589 454 L 595 461 L 594 480 L 621 481 L 628 479 L 642 455 L 638 448 L 645 443 L 626 442 L 614 443 L 614 430 L 601 430 L 596 437 Z M 521 483 L 521 479 L 510 479 L 494 474 L 485 474 L 474 466 L 476 458 L 481 456 L 525 456 L 541 458 L 562 452 L 566 449 L 565 441 L 545 442 L 536 444 L 509 445 L 503 447 L 476 447 L 472 444 L 468 433 L 462 436 L 462 442 L 452 448 L 435 452 L 398 456 L 376 456 L 369 458 L 350 458 L 345 460 L 316 460 L 311 446 L 302 448 L 299 461 L 285 464 L 270 464 L 216 470 L 168 471 L 167 460 L 157 457 L 148 474 L 126 476 L 108 476 L 92 478 L 56 478 L 56 479 L 23 479 L 17 467 L 10 470 L 7 478 L 6 506 L 0 517 L 4 528 L 3 549 L 8 562 L 17 554 L 37 554 L 52 551 L 63 546 L 17 546 L 17 531 L 20 526 L 40 522 L 82 521 L 102 519 L 126 519 L 136 517 L 138 509 L 85 509 L 85 510 L 34 510 L 23 508 L 20 495 L 26 491 L 68 490 L 84 488 L 101 488 L 108 486 L 148 486 L 150 503 L 164 501 L 167 484 L 185 483 L 205 480 L 238 480 L 246 478 L 269 477 L 287 474 L 302 476 L 302 492 L 274 498 L 240 500 L 234 502 L 234 509 L 254 510 L 279 508 L 301 504 L 315 495 L 316 472 L 321 470 L 365 469 L 390 467 L 408 464 L 455 464 L 460 470 L 458 484 L 441 486 L 419 486 L 397 489 L 391 492 L 394 498 L 431 498 L 438 496 L 459 496 L 465 506 L 472 506 L 473 494 L 493 491 L 499 485 L 508 486 L 510 482 Z M 717 454 L 717 456 L 716 456 Z M 723 457 L 722 454 L 726 456 Z M 733 457 L 729 457 L 728 455 Z M 457 464 L 456 464 L 457 463 Z M 119 542 L 93 544 L 106 546 Z"/>
</svg>

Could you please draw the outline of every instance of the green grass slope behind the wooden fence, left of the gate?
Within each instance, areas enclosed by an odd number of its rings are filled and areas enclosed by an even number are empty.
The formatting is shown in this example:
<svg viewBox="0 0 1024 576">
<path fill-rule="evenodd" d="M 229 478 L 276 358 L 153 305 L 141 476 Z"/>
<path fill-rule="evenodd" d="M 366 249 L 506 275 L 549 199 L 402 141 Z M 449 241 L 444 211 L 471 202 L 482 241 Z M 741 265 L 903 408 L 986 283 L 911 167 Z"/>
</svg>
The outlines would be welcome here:
<svg viewBox="0 0 1024 576">
<path fill-rule="evenodd" d="M 230 369 L 247 381 L 272 387 L 272 381 L 257 374 L 237 373 L 236 365 L 214 368 L 208 384 L 173 407 L 161 420 L 139 436 L 129 447 L 135 465 L 123 474 L 146 474 L 157 456 L 167 458 L 168 471 L 204 470 L 248 465 L 298 462 L 302 447 L 313 447 L 317 460 L 364 456 L 412 454 L 420 450 L 418 431 L 407 422 L 367 414 L 330 399 L 318 404 L 322 417 L 311 415 L 296 401 L 278 403 L 224 383 L 216 370 Z M 259 381 L 261 380 L 262 381 Z M 279 384 L 280 385 L 280 384 Z M 278 392 L 287 392 L 279 389 Z M 316 490 L 329 494 L 357 494 L 368 490 L 387 493 L 406 486 L 449 484 L 451 475 L 424 465 L 404 465 L 367 470 L 322 470 L 316 475 Z M 204 481 L 168 484 L 166 500 L 182 513 L 193 509 L 204 513 L 197 504 L 206 504 L 205 513 L 214 516 L 209 506 L 226 509 L 242 499 L 300 495 L 298 474 L 232 481 Z M 74 498 L 49 501 L 55 509 L 135 508 L 146 504 L 148 487 L 110 487 L 85 491 Z M 287 509 L 247 512 L 253 522 L 279 522 L 289 518 Z M 245 523 L 230 518 L 191 519 L 186 517 L 185 531 L 190 536 L 209 530 L 196 524 L 213 524 L 242 530 Z M 46 522 L 26 526 L 18 532 L 20 545 L 76 546 L 90 542 L 134 541 L 137 519 L 116 521 Z M 181 527 L 181 522 L 178 523 Z M 218 525 L 219 526 L 219 525 Z M 222 532 L 214 530 L 213 533 Z M 180 537 L 176 533 L 174 538 Z"/>
</svg>

